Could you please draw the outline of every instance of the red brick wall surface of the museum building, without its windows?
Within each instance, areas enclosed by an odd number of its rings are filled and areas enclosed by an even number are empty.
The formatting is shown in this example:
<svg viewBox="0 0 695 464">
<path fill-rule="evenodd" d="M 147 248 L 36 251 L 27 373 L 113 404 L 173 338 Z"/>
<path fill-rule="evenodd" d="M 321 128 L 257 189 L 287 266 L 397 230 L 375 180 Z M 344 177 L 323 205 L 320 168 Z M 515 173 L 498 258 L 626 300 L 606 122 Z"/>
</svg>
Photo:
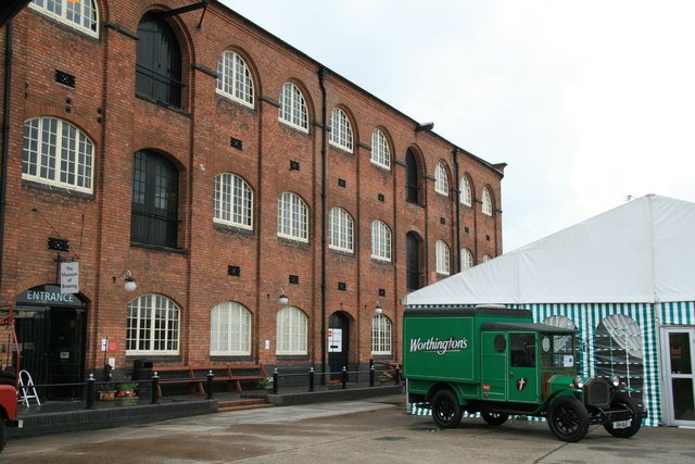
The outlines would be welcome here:
<svg viewBox="0 0 695 464">
<path fill-rule="evenodd" d="M 46 249 L 54 233 L 71 240 L 71 254 L 79 259 L 80 290 L 89 301 L 88 368 L 100 365 L 99 340 L 117 341 L 117 366 L 125 355 L 125 309 L 144 293 L 162 293 L 181 308 L 182 363 L 210 362 L 210 312 L 233 300 L 253 314 L 252 358 L 269 365 L 321 361 L 321 90 L 318 67 L 301 52 L 285 46 L 228 10 L 211 4 L 198 29 L 200 15 L 170 18 L 182 52 L 185 91 L 182 111 L 173 111 L 135 97 L 135 34 L 142 14 L 154 2 L 98 1 L 99 38 L 26 9 L 14 20 L 14 71 L 8 164 L 2 287 L 0 303 L 36 285 L 55 283 L 55 252 Z M 170 8 L 188 4 L 164 0 Z M 109 27 L 104 27 L 104 23 Z M 0 46 L 4 54 L 4 28 Z M 201 68 L 216 70 L 225 50 L 241 54 L 253 72 L 254 108 L 220 97 L 215 78 Z M 55 70 L 76 77 L 75 88 L 56 84 Z M 3 73 L 4 74 L 4 73 Z M 303 91 L 309 112 L 309 133 L 278 121 L 282 85 L 292 80 Z M 428 131 L 415 131 L 415 122 L 330 72 L 326 75 L 327 123 L 341 105 L 351 117 L 354 153 L 327 142 L 326 214 L 340 206 L 354 220 L 354 254 L 326 251 L 326 324 L 333 312 L 351 319 L 351 362 L 367 362 L 371 349 L 371 317 L 378 301 L 394 323 L 393 360 L 401 360 L 401 298 L 405 286 L 405 235 L 417 231 L 426 246 L 427 283 L 435 274 L 434 242 L 456 250 L 455 197 L 434 192 L 434 167 L 445 163 L 451 188 L 457 188 L 454 146 Z M 367 89 L 368 90 L 368 89 Z M 70 100 L 70 101 L 68 101 Z M 93 196 L 49 191 L 22 181 L 23 122 L 54 115 L 75 124 L 96 146 Z M 371 133 L 380 127 L 390 141 L 391 170 L 370 163 Z M 242 150 L 230 138 L 242 140 Z M 465 142 L 465 141 L 464 141 Z M 426 180 L 425 206 L 405 201 L 405 153 L 421 156 Z M 140 149 L 165 153 L 179 168 L 179 235 L 181 252 L 130 244 L 132 154 Z M 502 253 L 501 178 L 498 171 L 465 152 L 458 155 L 459 177 L 467 173 L 476 200 L 483 186 L 493 195 L 495 214 L 481 213 L 481 204 L 460 208 L 460 246 L 483 254 Z M 300 163 L 290 171 L 290 161 Z M 233 231 L 213 225 L 214 178 L 230 172 L 253 189 L 253 231 Z M 345 180 L 345 187 L 338 185 Z M 290 243 L 277 237 L 277 199 L 293 191 L 308 205 L 309 243 Z M 378 201 L 382 193 L 384 201 Z M 34 210 L 37 210 L 35 212 Z M 371 260 L 371 222 L 383 221 L 392 231 L 392 263 Z M 441 220 L 444 220 L 442 223 Z M 464 233 L 469 227 L 469 234 Z M 490 239 L 486 239 L 486 237 Z M 227 266 L 241 268 L 239 277 Z M 138 288 L 126 293 L 113 278 L 125 268 Z M 296 275 L 299 285 L 288 276 Z M 338 290 L 338 283 L 346 285 Z M 290 304 L 308 316 L 308 358 L 277 360 L 277 297 L 283 287 Z M 386 297 L 379 297 L 379 289 Z M 269 340 L 270 348 L 264 348 Z"/>
</svg>

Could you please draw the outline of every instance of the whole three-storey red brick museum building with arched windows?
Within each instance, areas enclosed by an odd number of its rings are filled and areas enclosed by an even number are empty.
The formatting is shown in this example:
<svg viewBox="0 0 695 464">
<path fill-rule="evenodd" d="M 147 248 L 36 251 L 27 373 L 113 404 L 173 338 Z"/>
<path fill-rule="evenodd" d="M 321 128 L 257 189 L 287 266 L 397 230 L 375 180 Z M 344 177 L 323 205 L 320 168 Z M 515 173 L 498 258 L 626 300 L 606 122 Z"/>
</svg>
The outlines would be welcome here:
<svg viewBox="0 0 695 464">
<path fill-rule="evenodd" d="M 401 298 L 502 253 L 504 164 L 216 1 L 33 0 L 1 33 L 0 304 L 36 383 L 397 362 Z"/>
</svg>

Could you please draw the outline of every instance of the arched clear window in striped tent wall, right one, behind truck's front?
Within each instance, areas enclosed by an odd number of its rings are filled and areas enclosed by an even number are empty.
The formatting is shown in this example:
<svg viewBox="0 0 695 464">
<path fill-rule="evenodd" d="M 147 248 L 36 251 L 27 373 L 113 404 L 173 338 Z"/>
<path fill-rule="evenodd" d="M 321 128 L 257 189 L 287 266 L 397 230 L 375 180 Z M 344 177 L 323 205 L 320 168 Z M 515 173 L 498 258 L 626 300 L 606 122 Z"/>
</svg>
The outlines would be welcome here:
<svg viewBox="0 0 695 464">
<path fill-rule="evenodd" d="M 640 326 L 629 316 L 612 314 L 596 327 L 596 374 L 620 377 L 620 381 L 636 391 L 633 398 L 642 398 L 644 354 Z"/>
</svg>

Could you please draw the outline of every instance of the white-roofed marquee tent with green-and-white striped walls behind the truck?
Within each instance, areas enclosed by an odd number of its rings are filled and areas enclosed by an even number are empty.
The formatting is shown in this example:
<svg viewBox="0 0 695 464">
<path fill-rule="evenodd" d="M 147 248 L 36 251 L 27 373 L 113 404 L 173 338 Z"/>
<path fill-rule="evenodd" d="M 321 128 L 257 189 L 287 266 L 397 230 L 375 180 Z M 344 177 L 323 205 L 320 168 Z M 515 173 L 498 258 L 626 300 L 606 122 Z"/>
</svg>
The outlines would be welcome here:
<svg viewBox="0 0 695 464">
<path fill-rule="evenodd" d="M 659 358 L 659 330 L 695 325 L 693 263 L 695 203 L 648 195 L 414 291 L 404 304 L 496 303 L 529 309 L 536 322 L 565 318 L 585 343 L 586 375 L 615 368 L 632 376 L 647 424 L 678 424 L 678 406 L 661 412 L 662 394 L 683 392 L 660 391 L 670 378 L 660 378 L 669 360 Z M 602 337 L 621 346 L 623 367 Z"/>
</svg>

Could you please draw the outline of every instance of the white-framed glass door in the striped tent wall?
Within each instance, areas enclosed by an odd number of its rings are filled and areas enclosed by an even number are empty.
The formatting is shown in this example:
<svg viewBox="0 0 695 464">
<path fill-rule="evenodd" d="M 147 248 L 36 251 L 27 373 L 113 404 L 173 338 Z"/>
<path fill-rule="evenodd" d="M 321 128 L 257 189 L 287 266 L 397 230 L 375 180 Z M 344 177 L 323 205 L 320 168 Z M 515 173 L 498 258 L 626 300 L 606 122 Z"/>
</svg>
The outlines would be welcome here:
<svg viewBox="0 0 695 464">
<path fill-rule="evenodd" d="M 667 425 L 695 425 L 695 327 L 662 328 Z"/>
</svg>

